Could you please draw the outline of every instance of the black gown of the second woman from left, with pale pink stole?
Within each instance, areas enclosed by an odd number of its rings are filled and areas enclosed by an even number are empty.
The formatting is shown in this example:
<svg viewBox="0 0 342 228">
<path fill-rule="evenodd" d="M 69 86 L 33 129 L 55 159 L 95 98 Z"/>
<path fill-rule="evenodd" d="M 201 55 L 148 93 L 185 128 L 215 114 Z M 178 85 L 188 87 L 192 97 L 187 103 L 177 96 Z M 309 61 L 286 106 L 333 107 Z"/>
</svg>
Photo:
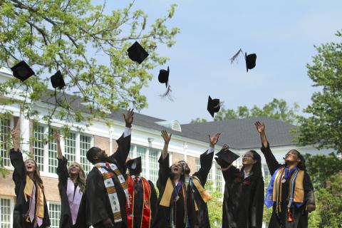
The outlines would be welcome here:
<svg viewBox="0 0 342 228">
<path fill-rule="evenodd" d="M 66 157 L 58 159 L 57 175 L 58 175 L 58 190 L 61 196 L 61 219 L 59 227 L 61 228 L 86 228 L 86 193 L 83 193 L 80 208 L 78 209 L 76 224 L 73 225 L 71 212 L 68 202 L 66 189 L 68 185 L 68 160 Z"/>
</svg>

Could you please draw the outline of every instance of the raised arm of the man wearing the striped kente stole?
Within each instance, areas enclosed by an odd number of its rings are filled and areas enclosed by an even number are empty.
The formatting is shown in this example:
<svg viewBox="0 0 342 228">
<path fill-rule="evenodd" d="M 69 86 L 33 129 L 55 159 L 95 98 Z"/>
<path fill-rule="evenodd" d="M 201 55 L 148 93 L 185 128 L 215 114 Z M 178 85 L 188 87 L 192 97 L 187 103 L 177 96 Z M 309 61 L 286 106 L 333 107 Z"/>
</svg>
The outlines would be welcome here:
<svg viewBox="0 0 342 228">
<path fill-rule="evenodd" d="M 118 150 L 112 157 L 118 162 L 120 167 L 125 167 L 126 159 L 130 153 L 130 133 L 134 119 L 134 109 L 129 109 L 126 114 L 123 114 L 125 120 L 125 132 L 116 141 L 118 142 Z"/>
</svg>

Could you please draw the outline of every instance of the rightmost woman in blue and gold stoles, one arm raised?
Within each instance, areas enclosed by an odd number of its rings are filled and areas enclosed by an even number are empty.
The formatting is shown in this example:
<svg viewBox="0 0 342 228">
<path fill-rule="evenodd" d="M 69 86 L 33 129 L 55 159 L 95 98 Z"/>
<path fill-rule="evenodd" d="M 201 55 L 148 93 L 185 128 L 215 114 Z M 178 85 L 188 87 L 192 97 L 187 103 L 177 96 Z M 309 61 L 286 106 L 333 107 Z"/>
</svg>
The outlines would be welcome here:
<svg viewBox="0 0 342 228">
<path fill-rule="evenodd" d="M 255 123 L 263 152 L 272 175 L 265 204 L 273 207 L 269 227 L 308 227 L 308 214 L 316 209 L 314 187 L 305 170 L 305 160 L 297 150 L 286 153 L 285 164 L 276 161 L 265 134 L 265 125 Z"/>
</svg>

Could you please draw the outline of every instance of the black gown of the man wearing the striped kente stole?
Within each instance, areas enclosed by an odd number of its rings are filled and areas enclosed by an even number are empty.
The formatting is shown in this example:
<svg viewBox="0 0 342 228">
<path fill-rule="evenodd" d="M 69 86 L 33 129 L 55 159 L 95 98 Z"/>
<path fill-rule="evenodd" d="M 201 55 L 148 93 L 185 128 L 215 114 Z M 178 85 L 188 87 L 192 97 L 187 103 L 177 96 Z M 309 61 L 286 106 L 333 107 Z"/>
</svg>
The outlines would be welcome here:
<svg viewBox="0 0 342 228">
<path fill-rule="evenodd" d="M 108 157 L 108 162 L 117 165 L 121 174 L 125 177 L 125 162 L 130 152 L 130 135 L 125 138 L 121 135 L 117 142 L 118 150 Z M 93 167 L 88 174 L 86 187 L 86 217 L 89 226 L 93 225 L 95 228 L 103 227 L 102 221 L 110 218 L 112 219 L 115 228 L 127 227 L 125 192 L 116 175 L 113 177 L 113 182 L 118 194 L 123 221 L 114 223 L 113 211 L 110 207 L 110 201 L 108 199 L 108 193 L 105 190 L 102 174 L 98 168 Z"/>
</svg>

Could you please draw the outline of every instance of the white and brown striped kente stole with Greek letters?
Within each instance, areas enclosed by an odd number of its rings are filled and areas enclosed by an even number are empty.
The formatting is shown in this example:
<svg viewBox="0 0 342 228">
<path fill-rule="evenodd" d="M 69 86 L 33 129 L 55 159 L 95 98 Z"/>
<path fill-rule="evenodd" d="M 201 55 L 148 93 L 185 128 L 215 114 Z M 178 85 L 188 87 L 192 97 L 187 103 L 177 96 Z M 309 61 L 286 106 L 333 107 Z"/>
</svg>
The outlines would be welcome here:
<svg viewBox="0 0 342 228">
<path fill-rule="evenodd" d="M 98 170 L 102 174 L 103 182 L 105 183 L 105 190 L 107 190 L 107 193 L 108 193 L 110 207 L 112 207 L 114 222 L 123 221 L 123 218 L 121 217 L 120 202 L 118 199 L 118 194 L 116 192 L 115 185 L 113 182 L 113 175 L 116 175 L 116 177 L 118 177 L 121 187 L 123 187 L 123 191 L 125 192 L 125 195 L 126 195 L 126 202 L 130 202 L 129 201 L 130 197 L 128 195 L 128 185 L 125 180 L 125 177 L 123 177 L 118 167 L 113 163 L 100 162 L 100 163 L 95 164 L 94 166 L 97 167 Z M 113 172 L 108 172 L 108 169 L 112 170 Z"/>
</svg>

